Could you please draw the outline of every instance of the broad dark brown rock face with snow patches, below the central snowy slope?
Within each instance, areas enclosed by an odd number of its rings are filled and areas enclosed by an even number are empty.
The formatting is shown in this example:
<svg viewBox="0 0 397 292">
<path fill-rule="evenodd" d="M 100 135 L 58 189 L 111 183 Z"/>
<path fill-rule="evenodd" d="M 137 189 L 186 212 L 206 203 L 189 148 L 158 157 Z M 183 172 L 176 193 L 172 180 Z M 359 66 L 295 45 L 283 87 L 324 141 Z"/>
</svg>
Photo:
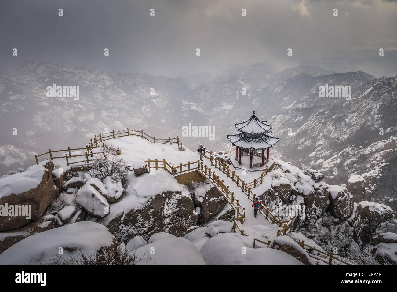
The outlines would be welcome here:
<svg viewBox="0 0 397 292">
<path fill-rule="evenodd" d="M 157 232 L 183 236 L 189 227 L 197 223 L 198 214 L 194 211 L 190 197 L 183 196 L 179 191 L 164 191 L 152 197 L 145 207 L 130 209 L 110 220 L 106 227 L 119 241 L 128 241 L 137 235 L 148 240 Z"/>
</svg>

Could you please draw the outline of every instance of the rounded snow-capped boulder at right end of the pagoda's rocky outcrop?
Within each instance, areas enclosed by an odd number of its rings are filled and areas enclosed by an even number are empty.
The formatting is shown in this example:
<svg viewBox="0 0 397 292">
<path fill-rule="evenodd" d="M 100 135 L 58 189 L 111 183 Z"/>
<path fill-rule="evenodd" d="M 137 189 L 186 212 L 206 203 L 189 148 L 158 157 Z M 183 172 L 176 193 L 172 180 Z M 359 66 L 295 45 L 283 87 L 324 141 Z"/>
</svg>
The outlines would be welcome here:
<svg viewBox="0 0 397 292">
<path fill-rule="evenodd" d="M 354 199 L 349 191 L 341 186 L 328 185 L 330 191 L 330 211 L 333 216 L 341 220 L 353 214 Z"/>
</svg>

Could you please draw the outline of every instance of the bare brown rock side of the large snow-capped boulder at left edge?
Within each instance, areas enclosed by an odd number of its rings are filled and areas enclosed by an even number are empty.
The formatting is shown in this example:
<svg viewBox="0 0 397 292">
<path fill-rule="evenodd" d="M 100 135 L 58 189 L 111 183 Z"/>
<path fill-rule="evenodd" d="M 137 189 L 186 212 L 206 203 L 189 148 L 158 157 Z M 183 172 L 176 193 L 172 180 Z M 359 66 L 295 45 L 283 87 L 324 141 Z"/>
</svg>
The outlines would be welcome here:
<svg viewBox="0 0 397 292">
<path fill-rule="evenodd" d="M 16 229 L 39 219 L 59 193 L 58 188 L 54 185 L 54 181 L 52 180 L 53 168 L 54 164 L 52 161 L 48 161 L 44 165 L 39 164 L 31 166 L 31 168 L 28 168 L 26 171 L 30 171 L 32 175 L 37 174 L 36 172 L 40 172 L 40 175 L 42 173 L 41 182 L 31 190 L 22 193 L 12 193 L 11 195 L 0 198 L 0 206 L 4 206 L 4 208 L 6 203 L 8 208 L 12 206 L 11 208 L 14 209 L 19 209 L 17 206 L 25 206 L 25 208 L 27 206 L 28 209 L 31 207 L 30 219 L 26 219 L 26 216 L 0 216 L 0 231 Z M 7 178 L 3 180 L 5 179 Z M 12 183 L 12 181 L 10 182 Z M 12 185 L 8 187 L 13 188 Z"/>
</svg>

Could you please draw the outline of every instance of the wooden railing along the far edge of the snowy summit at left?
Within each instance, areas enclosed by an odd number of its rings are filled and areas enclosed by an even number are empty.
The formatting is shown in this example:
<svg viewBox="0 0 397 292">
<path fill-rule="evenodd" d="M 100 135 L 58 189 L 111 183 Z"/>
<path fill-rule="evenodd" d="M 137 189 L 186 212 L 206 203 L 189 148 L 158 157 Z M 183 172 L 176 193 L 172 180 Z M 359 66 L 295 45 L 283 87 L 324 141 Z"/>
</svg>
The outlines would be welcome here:
<svg viewBox="0 0 397 292">
<path fill-rule="evenodd" d="M 70 148 L 67 147 L 67 149 L 62 149 L 62 150 L 51 150 L 48 149 L 48 152 L 39 154 L 39 155 L 35 155 L 35 159 L 36 159 L 36 164 L 39 164 L 39 157 L 42 157 L 44 155 L 48 155 L 46 157 L 46 159 L 66 159 L 66 164 L 67 165 L 71 165 L 71 164 L 76 164 L 76 163 L 89 163 L 90 161 L 93 161 L 93 159 L 90 159 L 93 157 L 93 155 L 95 154 L 101 154 L 103 151 L 98 151 L 98 148 L 104 148 L 104 141 L 110 140 L 110 139 L 116 139 L 116 138 L 120 138 L 120 137 L 125 137 L 125 136 L 138 136 L 138 137 L 142 137 L 142 139 L 146 139 L 151 143 L 159 143 L 162 141 L 170 141 L 170 143 L 178 143 L 178 145 L 180 146 L 180 149 L 183 150 L 183 145 L 182 143 L 179 141 L 179 136 L 176 136 L 175 138 L 155 138 L 152 137 L 148 134 L 146 134 L 143 130 L 137 131 L 137 130 L 131 130 L 129 128 L 127 128 L 126 130 L 120 130 L 120 131 L 111 131 L 109 133 L 105 133 L 104 135 L 102 135 L 102 133 L 99 133 L 99 135 L 94 135 L 94 139 L 91 139 L 90 142 L 84 147 L 84 148 Z M 175 140 L 175 141 L 173 141 Z M 71 151 L 83 151 L 83 154 L 79 154 L 79 155 L 72 155 Z M 58 156 L 58 153 L 66 153 L 65 156 Z M 73 161 L 70 162 L 69 159 L 74 158 L 74 157 L 83 157 L 82 161 Z"/>
</svg>

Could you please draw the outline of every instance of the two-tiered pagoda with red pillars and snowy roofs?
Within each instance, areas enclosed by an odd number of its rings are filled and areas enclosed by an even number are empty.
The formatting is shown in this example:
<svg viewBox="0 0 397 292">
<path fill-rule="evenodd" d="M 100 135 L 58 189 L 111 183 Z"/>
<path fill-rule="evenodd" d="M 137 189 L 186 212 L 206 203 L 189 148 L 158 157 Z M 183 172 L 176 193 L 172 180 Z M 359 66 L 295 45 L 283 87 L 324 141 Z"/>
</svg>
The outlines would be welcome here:
<svg viewBox="0 0 397 292">
<path fill-rule="evenodd" d="M 233 135 L 226 135 L 231 145 L 236 147 L 236 160 L 241 165 L 241 156 L 250 155 L 250 168 L 264 166 L 265 164 L 265 149 L 266 162 L 269 160 L 269 149 L 280 141 L 279 138 L 273 137 L 272 126 L 267 124 L 267 121 L 259 120 L 255 116 L 255 111 L 252 111 L 252 116 L 248 120 L 241 120 L 241 122 L 234 124 L 236 131 Z M 253 163 L 253 157 L 262 157 L 262 162 Z"/>
</svg>

